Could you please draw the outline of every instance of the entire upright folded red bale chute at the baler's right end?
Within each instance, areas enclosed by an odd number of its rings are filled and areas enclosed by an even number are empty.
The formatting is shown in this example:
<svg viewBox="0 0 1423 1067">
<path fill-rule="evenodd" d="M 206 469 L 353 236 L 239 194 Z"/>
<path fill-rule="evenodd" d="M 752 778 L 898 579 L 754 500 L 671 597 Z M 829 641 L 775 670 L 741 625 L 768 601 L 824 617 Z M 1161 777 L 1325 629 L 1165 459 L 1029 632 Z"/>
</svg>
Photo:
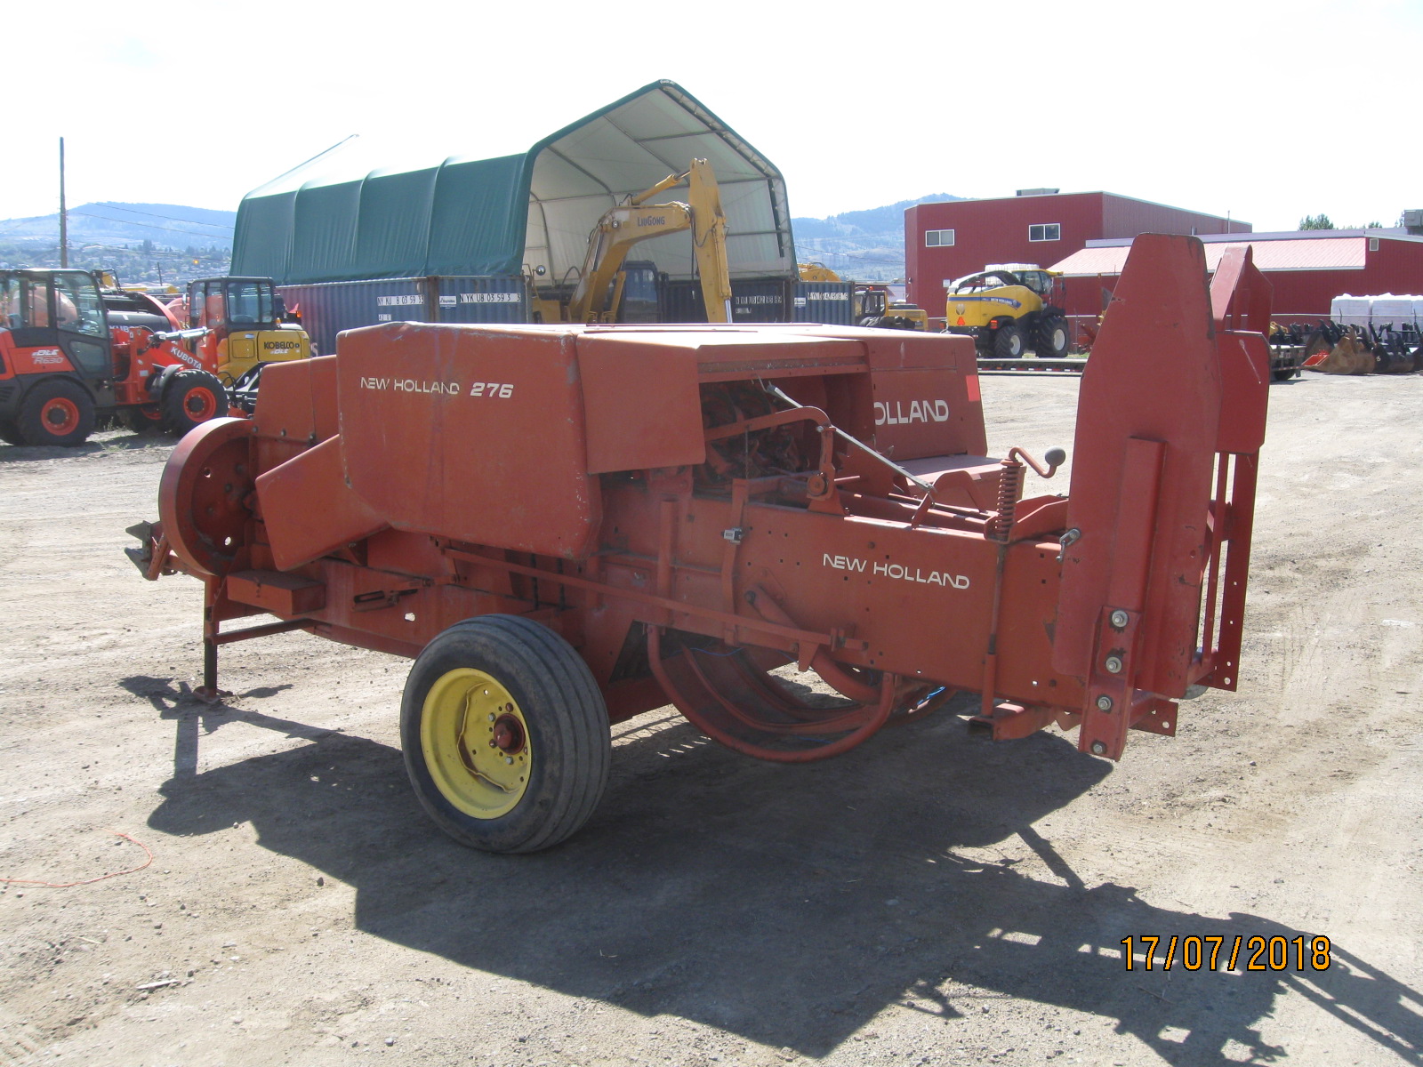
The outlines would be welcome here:
<svg viewBox="0 0 1423 1067">
<path fill-rule="evenodd" d="M 1097 755 L 1173 734 L 1192 684 L 1237 684 L 1269 282 L 1248 248 L 1210 296 L 1183 283 L 1204 276 L 1198 240 L 1138 236 L 1083 373 L 1053 666 L 1087 680 Z"/>
</svg>

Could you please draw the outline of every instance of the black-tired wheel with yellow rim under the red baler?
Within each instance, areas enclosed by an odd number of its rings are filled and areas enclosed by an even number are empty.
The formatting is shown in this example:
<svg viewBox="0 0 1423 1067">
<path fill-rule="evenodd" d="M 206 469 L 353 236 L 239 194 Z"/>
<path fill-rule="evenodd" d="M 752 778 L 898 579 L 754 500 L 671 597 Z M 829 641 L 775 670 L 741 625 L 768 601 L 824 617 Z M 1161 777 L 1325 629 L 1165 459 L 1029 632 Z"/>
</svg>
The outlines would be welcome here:
<svg viewBox="0 0 1423 1067">
<path fill-rule="evenodd" d="M 400 743 L 420 807 L 485 852 L 538 852 L 576 832 L 612 761 L 608 707 L 588 664 L 514 615 L 465 619 L 425 646 L 406 679 Z"/>
</svg>

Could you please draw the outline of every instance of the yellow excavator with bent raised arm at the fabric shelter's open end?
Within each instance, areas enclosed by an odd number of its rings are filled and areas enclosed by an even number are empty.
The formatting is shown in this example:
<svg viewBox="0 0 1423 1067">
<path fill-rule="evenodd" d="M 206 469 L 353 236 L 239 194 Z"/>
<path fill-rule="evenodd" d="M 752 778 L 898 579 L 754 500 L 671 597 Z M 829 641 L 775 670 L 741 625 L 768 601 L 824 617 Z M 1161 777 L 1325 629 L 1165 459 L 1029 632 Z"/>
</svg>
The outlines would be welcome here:
<svg viewBox="0 0 1423 1067">
<path fill-rule="evenodd" d="M 682 184 L 687 202 L 647 203 L 653 196 Z M 702 299 L 709 323 L 731 322 L 731 273 L 726 256 L 726 215 L 716 174 L 706 159 L 693 159 L 683 174 L 669 174 L 650 189 L 629 196 L 609 209 L 588 238 L 583 270 L 571 296 L 532 294 L 536 322 L 618 322 L 628 272 L 623 263 L 639 242 L 667 233 L 692 230 L 692 246 L 702 280 Z"/>
</svg>

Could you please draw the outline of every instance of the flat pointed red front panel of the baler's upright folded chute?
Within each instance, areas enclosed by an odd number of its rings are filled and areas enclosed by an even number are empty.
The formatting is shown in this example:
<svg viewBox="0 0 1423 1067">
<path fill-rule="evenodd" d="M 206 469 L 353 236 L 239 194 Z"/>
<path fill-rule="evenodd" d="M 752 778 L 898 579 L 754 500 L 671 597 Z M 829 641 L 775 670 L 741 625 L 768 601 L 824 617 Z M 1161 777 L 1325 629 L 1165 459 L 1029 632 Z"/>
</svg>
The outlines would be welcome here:
<svg viewBox="0 0 1423 1067">
<path fill-rule="evenodd" d="M 1069 528 L 1080 536 L 1063 551 L 1057 670 L 1090 674 L 1103 609 L 1141 610 L 1140 687 L 1163 696 L 1185 691 L 1200 625 L 1220 408 L 1201 242 L 1146 233 L 1136 240 L 1083 373 L 1067 505 Z M 1121 487 L 1133 475 L 1128 468 L 1150 458 L 1148 442 L 1164 450 L 1154 529 L 1141 543 L 1141 532 L 1127 521 L 1134 502 Z M 1133 553 L 1148 568 L 1144 602 L 1113 603 L 1113 595 L 1124 595 L 1118 572 Z"/>
</svg>

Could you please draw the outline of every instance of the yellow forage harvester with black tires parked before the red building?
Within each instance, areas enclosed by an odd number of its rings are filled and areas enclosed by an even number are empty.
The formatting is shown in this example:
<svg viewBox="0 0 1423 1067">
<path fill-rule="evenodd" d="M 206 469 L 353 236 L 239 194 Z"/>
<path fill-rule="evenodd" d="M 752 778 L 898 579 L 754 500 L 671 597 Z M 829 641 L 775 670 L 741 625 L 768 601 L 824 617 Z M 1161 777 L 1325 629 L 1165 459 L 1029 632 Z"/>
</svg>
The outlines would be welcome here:
<svg viewBox="0 0 1423 1067">
<path fill-rule="evenodd" d="M 1067 316 L 1053 303 L 1050 270 L 1032 263 L 999 263 L 949 286 L 945 333 L 968 334 L 979 353 L 1016 360 L 1026 351 L 1059 360 L 1067 354 Z"/>
</svg>

